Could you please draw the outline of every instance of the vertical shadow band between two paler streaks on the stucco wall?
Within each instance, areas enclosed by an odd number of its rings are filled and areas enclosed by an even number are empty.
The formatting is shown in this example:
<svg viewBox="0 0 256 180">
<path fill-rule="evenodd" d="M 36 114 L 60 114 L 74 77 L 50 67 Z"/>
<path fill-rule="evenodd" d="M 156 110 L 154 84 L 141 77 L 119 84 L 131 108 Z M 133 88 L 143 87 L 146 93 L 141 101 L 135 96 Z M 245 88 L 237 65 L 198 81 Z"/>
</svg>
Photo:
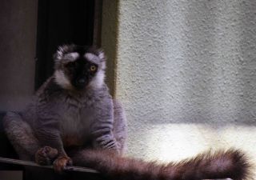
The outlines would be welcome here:
<svg viewBox="0 0 256 180">
<path fill-rule="evenodd" d="M 186 4 L 185 64 L 182 68 L 186 98 L 183 98 L 181 114 L 188 122 L 214 121 L 214 6 L 214 1 Z"/>
</svg>

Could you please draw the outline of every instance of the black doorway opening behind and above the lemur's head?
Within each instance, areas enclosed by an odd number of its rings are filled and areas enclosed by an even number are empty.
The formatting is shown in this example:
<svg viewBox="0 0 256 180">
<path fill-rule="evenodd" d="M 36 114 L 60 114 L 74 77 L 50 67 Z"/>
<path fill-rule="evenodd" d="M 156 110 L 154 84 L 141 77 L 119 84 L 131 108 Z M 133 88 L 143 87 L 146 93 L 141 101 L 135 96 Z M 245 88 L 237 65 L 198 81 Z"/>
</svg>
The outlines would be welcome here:
<svg viewBox="0 0 256 180">
<path fill-rule="evenodd" d="M 35 90 L 53 73 L 52 57 L 59 45 L 93 45 L 98 6 L 101 1 L 38 0 Z"/>
</svg>

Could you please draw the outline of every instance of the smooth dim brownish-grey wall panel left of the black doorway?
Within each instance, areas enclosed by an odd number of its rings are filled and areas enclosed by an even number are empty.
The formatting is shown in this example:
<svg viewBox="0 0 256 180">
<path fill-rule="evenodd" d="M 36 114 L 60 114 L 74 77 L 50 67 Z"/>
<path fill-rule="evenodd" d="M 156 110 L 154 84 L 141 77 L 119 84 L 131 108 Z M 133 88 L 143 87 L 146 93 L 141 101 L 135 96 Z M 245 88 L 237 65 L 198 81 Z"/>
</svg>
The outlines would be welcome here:
<svg viewBox="0 0 256 180">
<path fill-rule="evenodd" d="M 34 0 L 1 1 L 0 110 L 21 110 L 34 93 L 37 6 Z"/>
</svg>

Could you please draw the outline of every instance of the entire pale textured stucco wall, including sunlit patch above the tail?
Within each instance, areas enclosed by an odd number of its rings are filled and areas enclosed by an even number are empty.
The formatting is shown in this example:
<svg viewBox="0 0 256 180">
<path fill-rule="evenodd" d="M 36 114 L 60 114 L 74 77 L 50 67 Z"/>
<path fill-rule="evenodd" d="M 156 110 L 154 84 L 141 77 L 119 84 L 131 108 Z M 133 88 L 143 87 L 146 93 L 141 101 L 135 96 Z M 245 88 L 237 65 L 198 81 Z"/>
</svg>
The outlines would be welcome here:
<svg viewBox="0 0 256 180">
<path fill-rule="evenodd" d="M 235 146 L 256 158 L 255 10 L 254 0 L 119 2 L 110 23 L 127 154 L 166 161 Z"/>
</svg>

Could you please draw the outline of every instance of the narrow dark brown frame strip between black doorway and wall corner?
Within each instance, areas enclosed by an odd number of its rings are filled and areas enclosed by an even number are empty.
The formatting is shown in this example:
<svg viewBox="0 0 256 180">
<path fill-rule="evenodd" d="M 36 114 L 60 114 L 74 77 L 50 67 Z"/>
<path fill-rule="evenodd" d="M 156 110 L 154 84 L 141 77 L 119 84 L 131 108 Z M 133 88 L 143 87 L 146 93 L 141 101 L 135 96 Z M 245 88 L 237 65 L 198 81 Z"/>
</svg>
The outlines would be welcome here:
<svg viewBox="0 0 256 180">
<path fill-rule="evenodd" d="M 94 38 L 93 45 L 102 45 L 102 0 L 95 0 L 94 4 Z"/>
</svg>

